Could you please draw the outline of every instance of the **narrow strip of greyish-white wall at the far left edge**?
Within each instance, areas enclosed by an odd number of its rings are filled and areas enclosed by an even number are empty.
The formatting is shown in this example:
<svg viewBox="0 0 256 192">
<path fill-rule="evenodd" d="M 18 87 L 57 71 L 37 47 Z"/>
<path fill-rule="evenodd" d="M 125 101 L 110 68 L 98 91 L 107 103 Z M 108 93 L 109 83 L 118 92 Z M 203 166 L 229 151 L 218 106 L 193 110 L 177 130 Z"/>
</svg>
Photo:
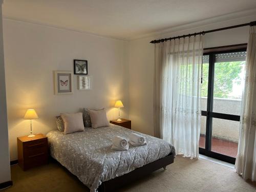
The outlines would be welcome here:
<svg viewBox="0 0 256 192">
<path fill-rule="evenodd" d="M 0 1 L 0 183 L 11 180 L 6 109 L 2 1 Z"/>
</svg>

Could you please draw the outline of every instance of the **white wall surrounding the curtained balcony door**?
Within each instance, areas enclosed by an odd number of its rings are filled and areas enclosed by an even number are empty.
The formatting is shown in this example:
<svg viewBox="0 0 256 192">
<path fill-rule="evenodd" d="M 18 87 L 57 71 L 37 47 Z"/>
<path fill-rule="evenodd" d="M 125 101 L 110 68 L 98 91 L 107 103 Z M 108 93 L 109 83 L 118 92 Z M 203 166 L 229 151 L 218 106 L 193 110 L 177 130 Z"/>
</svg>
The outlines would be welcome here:
<svg viewBox="0 0 256 192">
<path fill-rule="evenodd" d="M 217 24 L 177 31 L 158 37 L 135 40 L 129 44 L 129 89 L 130 119 L 133 129 L 154 135 L 153 127 L 153 77 L 154 77 L 154 45 L 151 40 L 173 37 L 217 29 L 232 25 L 244 24 L 256 20 L 256 15 L 228 20 Z M 204 48 L 243 44 L 247 42 L 249 27 L 242 27 L 205 34 Z"/>
</svg>

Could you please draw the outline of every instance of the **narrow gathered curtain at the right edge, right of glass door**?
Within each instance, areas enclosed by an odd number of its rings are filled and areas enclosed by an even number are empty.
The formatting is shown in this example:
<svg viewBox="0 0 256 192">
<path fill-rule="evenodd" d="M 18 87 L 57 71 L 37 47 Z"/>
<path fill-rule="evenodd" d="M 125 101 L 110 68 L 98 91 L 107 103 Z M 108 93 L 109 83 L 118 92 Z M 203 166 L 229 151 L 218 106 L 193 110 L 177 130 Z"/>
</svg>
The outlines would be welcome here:
<svg viewBox="0 0 256 192">
<path fill-rule="evenodd" d="M 250 27 L 245 70 L 236 169 L 256 181 L 256 26 Z"/>
</svg>

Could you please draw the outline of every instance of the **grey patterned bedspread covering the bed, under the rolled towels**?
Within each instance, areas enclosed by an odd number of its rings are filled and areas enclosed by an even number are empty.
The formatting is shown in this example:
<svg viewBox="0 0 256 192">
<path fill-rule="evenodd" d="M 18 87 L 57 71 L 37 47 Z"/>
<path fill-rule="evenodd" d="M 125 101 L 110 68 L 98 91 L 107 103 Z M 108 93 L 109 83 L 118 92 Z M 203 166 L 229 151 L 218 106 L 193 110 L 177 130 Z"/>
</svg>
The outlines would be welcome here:
<svg viewBox="0 0 256 192">
<path fill-rule="evenodd" d="M 112 138 L 129 140 L 131 133 L 143 135 L 144 146 L 130 146 L 128 151 L 111 150 Z M 168 142 L 124 127 L 113 125 L 64 135 L 59 131 L 47 134 L 51 156 L 87 185 L 91 191 L 110 179 L 124 175 L 145 164 L 175 154 Z"/>
</svg>

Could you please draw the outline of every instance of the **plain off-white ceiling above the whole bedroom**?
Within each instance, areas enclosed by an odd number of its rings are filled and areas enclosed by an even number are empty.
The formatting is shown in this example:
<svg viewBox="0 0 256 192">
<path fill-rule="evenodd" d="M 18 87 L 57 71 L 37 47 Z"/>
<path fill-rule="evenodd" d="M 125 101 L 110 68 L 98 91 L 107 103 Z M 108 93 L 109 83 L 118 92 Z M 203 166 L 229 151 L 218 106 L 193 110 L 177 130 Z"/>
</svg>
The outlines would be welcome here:
<svg viewBox="0 0 256 192">
<path fill-rule="evenodd" d="M 255 8 L 255 0 L 5 0 L 3 15 L 25 22 L 132 40 Z"/>
</svg>

